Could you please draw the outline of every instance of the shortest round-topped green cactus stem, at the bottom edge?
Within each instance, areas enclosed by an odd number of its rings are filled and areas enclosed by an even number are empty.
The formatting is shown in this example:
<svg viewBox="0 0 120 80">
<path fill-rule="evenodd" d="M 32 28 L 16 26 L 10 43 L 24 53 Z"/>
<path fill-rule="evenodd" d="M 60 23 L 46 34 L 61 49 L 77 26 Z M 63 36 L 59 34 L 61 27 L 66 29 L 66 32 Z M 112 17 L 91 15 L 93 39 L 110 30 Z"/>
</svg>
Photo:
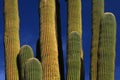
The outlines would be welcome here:
<svg viewBox="0 0 120 80">
<path fill-rule="evenodd" d="M 42 66 L 38 59 L 27 60 L 24 67 L 24 80 L 42 80 Z"/>
</svg>

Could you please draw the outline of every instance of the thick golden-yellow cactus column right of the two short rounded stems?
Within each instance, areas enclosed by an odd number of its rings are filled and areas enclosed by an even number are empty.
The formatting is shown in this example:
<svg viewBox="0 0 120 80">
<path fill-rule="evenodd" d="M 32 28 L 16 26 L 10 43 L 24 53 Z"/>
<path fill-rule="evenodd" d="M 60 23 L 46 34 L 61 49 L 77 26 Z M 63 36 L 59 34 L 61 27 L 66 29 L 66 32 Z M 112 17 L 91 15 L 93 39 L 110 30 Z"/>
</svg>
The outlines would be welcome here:
<svg viewBox="0 0 120 80">
<path fill-rule="evenodd" d="M 43 80 L 60 80 L 55 0 L 40 0 L 40 47 Z"/>
</svg>

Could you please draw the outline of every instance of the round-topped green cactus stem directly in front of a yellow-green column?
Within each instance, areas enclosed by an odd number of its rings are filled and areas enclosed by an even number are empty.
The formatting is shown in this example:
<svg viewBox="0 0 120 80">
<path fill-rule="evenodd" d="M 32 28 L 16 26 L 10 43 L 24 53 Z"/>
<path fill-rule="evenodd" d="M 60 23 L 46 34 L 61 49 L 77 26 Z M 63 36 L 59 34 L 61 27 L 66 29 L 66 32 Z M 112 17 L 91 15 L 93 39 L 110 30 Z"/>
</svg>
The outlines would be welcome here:
<svg viewBox="0 0 120 80">
<path fill-rule="evenodd" d="M 67 80 L 80 80 L 81 70 L 81 39 L 78 32 L 73 31 L 68 36 L 67 48 Z"/>
</svg>

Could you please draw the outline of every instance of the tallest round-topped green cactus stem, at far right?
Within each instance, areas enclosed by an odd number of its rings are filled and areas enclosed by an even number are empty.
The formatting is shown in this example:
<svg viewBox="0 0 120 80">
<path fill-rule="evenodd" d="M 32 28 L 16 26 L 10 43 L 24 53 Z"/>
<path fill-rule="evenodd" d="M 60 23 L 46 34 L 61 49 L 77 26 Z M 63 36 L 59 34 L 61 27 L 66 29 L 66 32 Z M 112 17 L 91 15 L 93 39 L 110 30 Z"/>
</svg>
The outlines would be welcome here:
<svg viewBox="0 0 120 80">
<path fill-rule="evenodd" d="M 101 19 L 97 80 L 114 80 L 116 20 L 112 13 Z"/>
</svg>

